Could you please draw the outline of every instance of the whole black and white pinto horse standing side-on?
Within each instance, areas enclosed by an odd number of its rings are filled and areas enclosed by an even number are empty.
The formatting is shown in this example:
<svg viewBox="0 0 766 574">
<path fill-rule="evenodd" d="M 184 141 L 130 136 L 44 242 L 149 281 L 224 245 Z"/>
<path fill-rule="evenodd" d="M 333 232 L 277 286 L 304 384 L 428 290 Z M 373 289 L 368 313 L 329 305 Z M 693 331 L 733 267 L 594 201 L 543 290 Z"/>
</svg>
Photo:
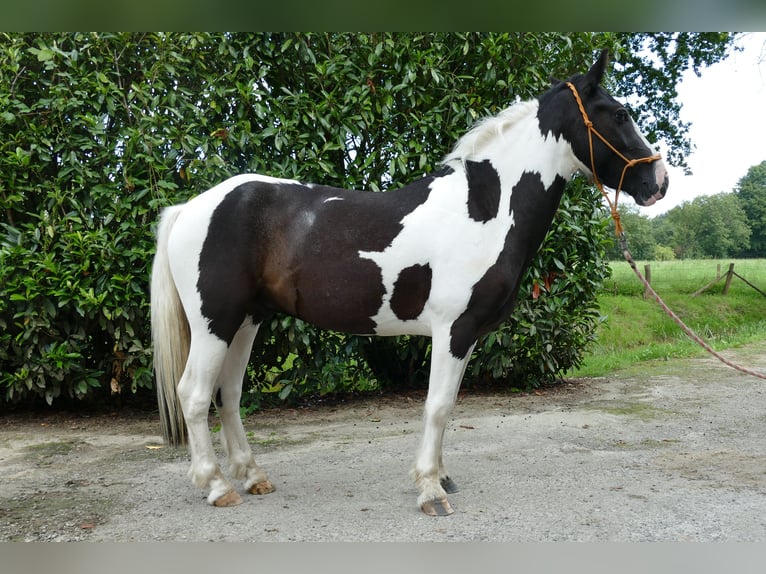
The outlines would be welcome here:
<svg viewBox="0 0 766 574">
<path fill-rule="evenodd" d="M 567 181 L 581 171 L 639 205 L 665 195 L 662 161 L 599 85 L 606 65 L 602 52 L 587 73 L 480 122 L 439 171 L 401 189 L 248 174 L 163 211 L 151 283 L 161 423 L 174 444 L 188 429 L 189 476 L 210 504 L 242 502 L 211 442 L 216 395 L 229 475 L 253 494 L 274 490 L 239 402 L 258 327 L 286 313 L 346 333 L 432 338 L 412 475 L 423 512 L 452 513 L 442 439 L 461 379 L 477 339 L 511 313 Z"/>
</svg>

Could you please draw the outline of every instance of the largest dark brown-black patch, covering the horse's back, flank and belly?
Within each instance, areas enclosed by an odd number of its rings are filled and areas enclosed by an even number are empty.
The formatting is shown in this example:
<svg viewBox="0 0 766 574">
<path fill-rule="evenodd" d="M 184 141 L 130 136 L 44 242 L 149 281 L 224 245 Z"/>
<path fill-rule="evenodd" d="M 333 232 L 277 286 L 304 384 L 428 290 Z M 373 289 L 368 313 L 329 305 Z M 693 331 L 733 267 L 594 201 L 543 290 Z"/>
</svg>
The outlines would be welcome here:
<svg viewBox="0 0 766 574">
<path fill-rule="evenodd" d="M 231 344 L 247 316 L 260 323 L 281 312 L 374 334 L 385 288 L 378 265 L 359 252 L 385 250 L 433 179 L 386 193 L 263 181 L 230 191 L 200 253 L 197 289 L 210 332 Z"/>
</svg>

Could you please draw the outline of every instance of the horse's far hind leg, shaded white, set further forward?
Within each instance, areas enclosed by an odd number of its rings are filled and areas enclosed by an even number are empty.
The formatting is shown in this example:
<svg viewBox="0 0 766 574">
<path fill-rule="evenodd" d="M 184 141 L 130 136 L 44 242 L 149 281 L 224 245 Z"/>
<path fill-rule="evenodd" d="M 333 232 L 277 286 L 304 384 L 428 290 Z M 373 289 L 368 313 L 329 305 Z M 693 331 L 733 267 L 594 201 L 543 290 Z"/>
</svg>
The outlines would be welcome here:
<svg viewBox="0 0 766 574">
<path fill-rule="evenodd" d="M 221 391 L 221 436 L 229 460 L 232 478 L 244 479 L 245 488 L 252 494 L 268 494 L 274 487 L 255 463 L 250 444 L 247 442 L 239 404 L 242 397 L 242 380 L 250 358 L 250 349 L 258 332 L 258 325 L 247 323 L 240 328 L 229 346 L 226 360 L 218 377 Z"/>
</svg>

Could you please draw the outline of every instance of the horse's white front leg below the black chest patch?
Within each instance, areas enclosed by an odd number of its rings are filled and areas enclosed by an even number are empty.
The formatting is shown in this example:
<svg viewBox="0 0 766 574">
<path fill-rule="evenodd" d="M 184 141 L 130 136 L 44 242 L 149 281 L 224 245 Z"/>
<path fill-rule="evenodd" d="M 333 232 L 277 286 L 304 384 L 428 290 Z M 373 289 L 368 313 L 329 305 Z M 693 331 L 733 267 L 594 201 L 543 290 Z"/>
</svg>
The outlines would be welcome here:
<svg viewBox="0 0 766 574">
<path fill-rule="evenodd" d="M 413 470 L 415 484 L 420 489 L 418 505 L 430 516 L 447 516 L 453 512 L 447 494 L 457 492 L 457 485 L 444 467 L 442 444 L 472 350 L 473 346 L 460 359 L 450 352 L 448 336 L 434 336 L 432 341 L 423 441 Z"/>
</svg>

